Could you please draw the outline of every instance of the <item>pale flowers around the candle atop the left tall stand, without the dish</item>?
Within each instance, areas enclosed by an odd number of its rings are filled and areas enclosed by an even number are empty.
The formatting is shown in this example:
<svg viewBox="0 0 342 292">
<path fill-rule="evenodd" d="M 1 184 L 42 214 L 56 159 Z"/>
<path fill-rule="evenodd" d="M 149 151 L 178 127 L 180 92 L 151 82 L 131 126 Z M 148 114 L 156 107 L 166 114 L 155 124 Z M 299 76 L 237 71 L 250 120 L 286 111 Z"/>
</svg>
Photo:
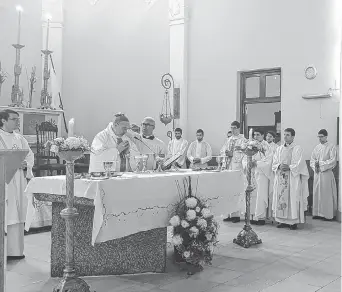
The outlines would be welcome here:
<svg viewBox="0 0 342 292">
<path fill-rule="evenodd" d="M 60 137 L 52 141 L 47 141 L 44 146 L 56 155 L 64 151 L 90 151 L 89 143 L 83 137 L 68 137 L 66 139 Z"/>
</svg>

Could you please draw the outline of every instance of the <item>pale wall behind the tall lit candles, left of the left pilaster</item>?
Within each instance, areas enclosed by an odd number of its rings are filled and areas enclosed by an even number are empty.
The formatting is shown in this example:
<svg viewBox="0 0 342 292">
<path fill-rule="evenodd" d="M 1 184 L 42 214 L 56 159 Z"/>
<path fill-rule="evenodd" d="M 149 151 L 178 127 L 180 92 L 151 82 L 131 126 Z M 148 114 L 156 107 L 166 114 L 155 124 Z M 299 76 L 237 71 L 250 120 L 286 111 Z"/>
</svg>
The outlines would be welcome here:
<svg viewBox="0 0 342 292">
<path fill-rule="evenodd" d="M 18 33 L 18 12 L 16 5 L 23 8 L 21 16 L 21 65 L 20 87 L 24 90 L 24 101 L 29 100 L 28 79 L 31 75 L 31 69 L 36 66 L 37 83 L 33 93 L 33 107 L 40 105 L 40 91 L 42 84 L 42 3 L 32 0 L 2 0 L 0 3 L 0 62 L 1 67 L 8 73 L 7 80 L 2 84 L 0 105 L 11 104 L 12 85 L 14 84 L 14 64 L 16 50 L 12 44 L 17 43 Z"/>
</svg>

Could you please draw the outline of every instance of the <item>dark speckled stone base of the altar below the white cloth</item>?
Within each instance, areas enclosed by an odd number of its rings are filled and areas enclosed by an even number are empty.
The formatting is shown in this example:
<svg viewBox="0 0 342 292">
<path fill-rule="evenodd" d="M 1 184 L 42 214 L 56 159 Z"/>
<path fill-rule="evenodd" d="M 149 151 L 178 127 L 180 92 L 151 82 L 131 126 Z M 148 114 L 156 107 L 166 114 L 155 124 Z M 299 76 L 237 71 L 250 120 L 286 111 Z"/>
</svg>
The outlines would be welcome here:
<svg viewBox="0 0 342 292">
<path fill-rule="evenodd" d="M 64 203 L 52 203 L 51 277 L 62 277 L 65 264 Z M 122 275 L 166 269 L 167 228 L 156 228 L 91 245 L 94 206 L 75 205 L 75 270 L 77 276 Z"/>
</svg>

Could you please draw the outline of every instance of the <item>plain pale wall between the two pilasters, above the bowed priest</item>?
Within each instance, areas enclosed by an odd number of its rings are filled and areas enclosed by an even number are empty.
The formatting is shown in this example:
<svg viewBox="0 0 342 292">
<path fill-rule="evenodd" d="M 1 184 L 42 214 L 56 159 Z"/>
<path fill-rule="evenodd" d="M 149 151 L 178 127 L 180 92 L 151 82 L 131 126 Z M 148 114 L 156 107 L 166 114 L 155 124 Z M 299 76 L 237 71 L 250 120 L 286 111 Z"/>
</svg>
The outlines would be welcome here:
<svg viewBox="0 0 342 292">
<path fill-rule="evenodd" d="M 156 119 L 156 134 L 169 71 L 168 1 L 64 1 L 62 94 L 75 133 L 89 141 L 116 112 L 140 124 Z"/>
</svg>

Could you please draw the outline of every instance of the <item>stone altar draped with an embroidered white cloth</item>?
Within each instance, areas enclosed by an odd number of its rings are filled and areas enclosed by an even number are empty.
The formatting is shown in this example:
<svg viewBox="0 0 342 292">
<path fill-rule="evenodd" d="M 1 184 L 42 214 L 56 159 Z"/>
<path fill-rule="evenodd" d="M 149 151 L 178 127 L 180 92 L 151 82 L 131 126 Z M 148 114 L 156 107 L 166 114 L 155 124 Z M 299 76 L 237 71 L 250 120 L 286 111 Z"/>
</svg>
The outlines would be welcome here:
<svg viewBox="0 0 342 292">
<path fill-rule="evenodd" d="M 195 196 L 207 198 L 215 216 L 236 211 L 241 204 L 243 175 L 239 171 L 135 174 L 106 180 L 75 180 L 75 269 L 79 276 L 164 272 L 167 226 L 177 185 L 191 179 Z M 215 190 L 215 191 L 214 191 Z M 65 177 L 36 177 L 27 186 L 30 228 L 39 201 L 52 202 L 51 276 L 64 268 Z"/>
</svg>

